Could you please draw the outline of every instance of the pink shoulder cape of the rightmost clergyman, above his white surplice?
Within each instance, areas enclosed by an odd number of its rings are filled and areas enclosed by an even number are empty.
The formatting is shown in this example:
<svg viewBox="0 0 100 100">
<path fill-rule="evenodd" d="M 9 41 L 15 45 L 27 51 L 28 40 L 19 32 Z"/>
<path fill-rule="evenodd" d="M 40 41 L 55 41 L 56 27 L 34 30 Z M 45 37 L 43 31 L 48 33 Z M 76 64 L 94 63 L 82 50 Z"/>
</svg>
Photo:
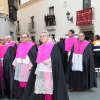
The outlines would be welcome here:
<svg viewBox="0 0 100 100">
<path fill-rule="evenodd" d="M 89 44 L 90 42 L 84 40 L 82 42 L 80 41 L 77 41 L 76 43 L 74 43 L 74 53 L 75 54 L 83 54 L 85 48 L 87 47 L 87 45 Z"/>
</svg>

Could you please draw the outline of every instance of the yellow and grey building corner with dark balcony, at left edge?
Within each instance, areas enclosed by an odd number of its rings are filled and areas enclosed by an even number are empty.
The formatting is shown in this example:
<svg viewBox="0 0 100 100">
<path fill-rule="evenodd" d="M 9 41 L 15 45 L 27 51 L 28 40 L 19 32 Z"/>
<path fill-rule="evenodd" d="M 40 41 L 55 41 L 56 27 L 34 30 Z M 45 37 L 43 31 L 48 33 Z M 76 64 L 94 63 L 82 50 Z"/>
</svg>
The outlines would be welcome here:
<svg viewBox="0 0 100 100">
<path fill-rule="evenodd" d="M 16 40 L 17 1 L 0 0 L 0 36 L 11 35 Z"/>
</svg>

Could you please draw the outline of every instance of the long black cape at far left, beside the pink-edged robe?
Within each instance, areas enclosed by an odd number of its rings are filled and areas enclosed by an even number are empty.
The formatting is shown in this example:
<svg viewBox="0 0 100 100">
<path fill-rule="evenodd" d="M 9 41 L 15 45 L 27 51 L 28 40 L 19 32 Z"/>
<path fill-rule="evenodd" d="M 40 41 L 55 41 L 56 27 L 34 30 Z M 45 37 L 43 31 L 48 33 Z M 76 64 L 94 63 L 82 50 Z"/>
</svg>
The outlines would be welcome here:
<svg viewBox="0 0 100 100">
<path fill-rule="evenodd" d="M 12 62 L 14 60 L 12 47 L 8 47 L 4 58 L 3 58 L 3 78 L 4 78 L 4 87 L 2 87 L 2 84 L 0 84 L 0 95 L 7 96 L 9 99 L 12 99 L 13 96 L 11 94 L 12 91 L 12 85 L 14 81 L 14 69 L 12 66 Z"/>
</svg>

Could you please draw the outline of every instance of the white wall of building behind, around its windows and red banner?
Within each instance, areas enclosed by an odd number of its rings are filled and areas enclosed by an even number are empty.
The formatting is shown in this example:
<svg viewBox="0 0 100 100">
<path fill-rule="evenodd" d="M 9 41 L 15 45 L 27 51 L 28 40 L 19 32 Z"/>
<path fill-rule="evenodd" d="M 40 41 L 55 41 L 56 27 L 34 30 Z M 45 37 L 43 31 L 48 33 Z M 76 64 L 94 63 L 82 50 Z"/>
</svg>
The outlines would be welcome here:
<svg viewBox="0 0 100 100">
<path fill-rule="evenodd" d="M 22 0 L 23 1 L 23 0 Z M 67 1 L 67 7 L 63 6 L 64 1 Z M 92 6 L 95 7 L 95 32 L 99 33 L 100 25 L 100 0 L 92 0 Z M 82 10 L 83 0 L 41 0 L 38 3 L 28 5 L 21 8 L 18 11 L 18 20 L 21 25 L 21 33 L 28 32 L 28 23 L 31 21 L 31 16 L 34 16 L 36 22 L 36 33 L 31 35 L 36 36 L 36 40 L 39 39 L 40 33 L 45 30 L 44 15 L 49 13 L 49 7 L 54 6 L 54 14 L 56 16 L 56 30 L 50 31 L 50 34 L 55 34 L 55 37 L 59 40 L 61 37 L 65 37 L 69 29 L 74 29 L 76 34 L 79 33 L 80 27 L 76 26 L 76 11 Z M 66 13 L 70 12 L 73 16 L 73 23 L 68 21 Z"/>
</svg>

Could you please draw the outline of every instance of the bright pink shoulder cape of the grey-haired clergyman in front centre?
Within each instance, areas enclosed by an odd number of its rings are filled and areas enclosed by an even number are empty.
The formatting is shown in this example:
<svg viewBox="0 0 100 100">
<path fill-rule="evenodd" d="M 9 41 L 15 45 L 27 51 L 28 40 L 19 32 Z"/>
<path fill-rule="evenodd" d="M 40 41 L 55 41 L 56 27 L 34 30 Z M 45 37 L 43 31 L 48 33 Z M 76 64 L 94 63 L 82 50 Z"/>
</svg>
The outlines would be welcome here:
<svg viewBox="0 0 100 100">
<path fill-rule="evenodd" d="M 53 46 L 54 46 L 53 42 L 42 44 L 38 49 L 38 56 L 36 62 L 43 62 L 49 59 Z"/>
</svg>

